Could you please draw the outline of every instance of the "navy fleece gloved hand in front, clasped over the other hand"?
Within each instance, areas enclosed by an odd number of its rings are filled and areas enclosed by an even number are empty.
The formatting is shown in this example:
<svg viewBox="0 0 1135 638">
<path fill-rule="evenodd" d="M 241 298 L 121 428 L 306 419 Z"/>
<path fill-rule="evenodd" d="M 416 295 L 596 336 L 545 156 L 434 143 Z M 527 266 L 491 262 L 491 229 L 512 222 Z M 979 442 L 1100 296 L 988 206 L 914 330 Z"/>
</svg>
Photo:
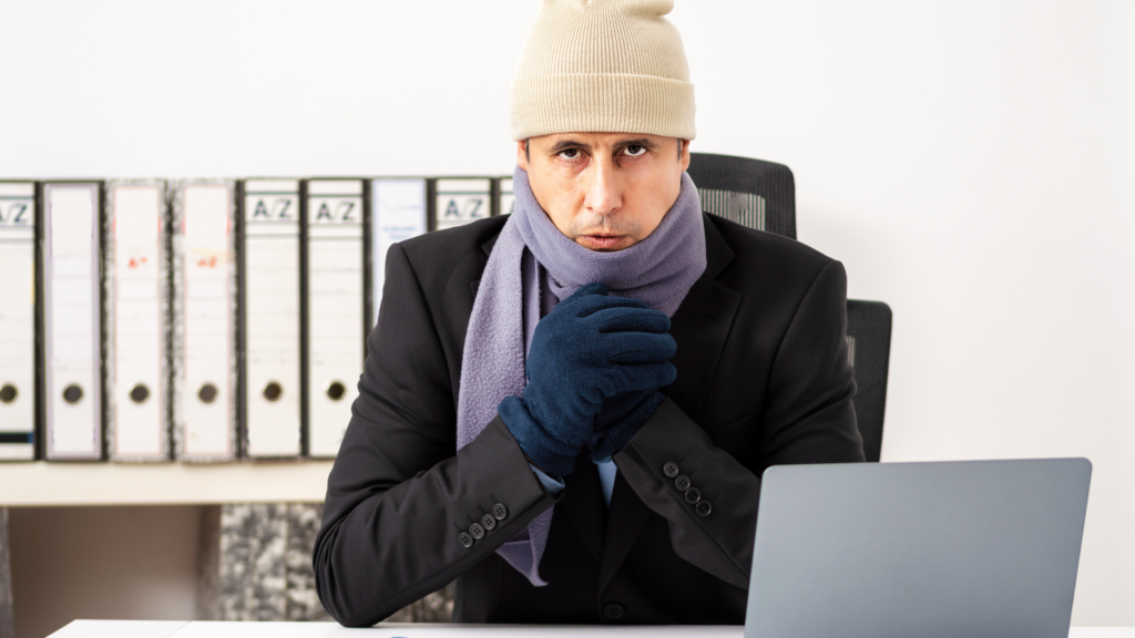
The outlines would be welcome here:
<svg viewBox="0 0 1135 638">
<path fill-rule="evenodd" d="M 523 394 L 497 406 L 524 454 L 547 473 L 570 475 L 605 398 L 673 381 L 669 329 L 665 313 L 608 296 L 603 284 L 560 302 L 532 334 Z"/>
</svg>

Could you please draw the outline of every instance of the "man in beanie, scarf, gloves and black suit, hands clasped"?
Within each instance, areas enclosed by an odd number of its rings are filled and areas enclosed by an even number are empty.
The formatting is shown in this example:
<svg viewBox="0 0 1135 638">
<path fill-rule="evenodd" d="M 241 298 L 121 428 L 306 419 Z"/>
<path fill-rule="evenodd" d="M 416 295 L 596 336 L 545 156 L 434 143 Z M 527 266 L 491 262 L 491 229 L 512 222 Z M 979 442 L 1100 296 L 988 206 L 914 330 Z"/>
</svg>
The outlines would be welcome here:
<svg viewBox="0 0 1135 638">
<path fill-rule="evenodd" d="M 545 0 L 516 208 L 394 245 L 316 543 L 369 626 L 742 623 L 760 475 L 861 461 L 842 266 L 700 211 L 669 0 Z"/>
</svg>

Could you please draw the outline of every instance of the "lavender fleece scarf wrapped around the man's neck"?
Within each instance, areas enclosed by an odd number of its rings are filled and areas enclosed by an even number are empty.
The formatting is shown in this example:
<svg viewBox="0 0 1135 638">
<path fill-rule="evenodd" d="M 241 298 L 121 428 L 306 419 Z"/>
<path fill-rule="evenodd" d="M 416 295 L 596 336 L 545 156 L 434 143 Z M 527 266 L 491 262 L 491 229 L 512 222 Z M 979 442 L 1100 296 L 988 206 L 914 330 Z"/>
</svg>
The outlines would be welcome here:
<svg viewBox="0 0 1135 638">
<path fill-rule="evenodd" d="M 678 200 L 658 228 L 617 252 L 590 251 L 561 233 L 536 201 L 528 173 L 520 167 L 513 174 L 513 190 L 516 205 L 481 275 L 465 333 L 457 396 L 459 448 L 469 445 L 496 417 L 502 398 L 523 392 L 526 344 L 555 300 L 602 282 L 611 294 L 642 300 L 673 316 L 706 268 L 701 204 L 684 173 Z M 497 549 L 537 587 L 547 585 L 538 570 L 552 511 L 537 515 Z"/>
</svg>

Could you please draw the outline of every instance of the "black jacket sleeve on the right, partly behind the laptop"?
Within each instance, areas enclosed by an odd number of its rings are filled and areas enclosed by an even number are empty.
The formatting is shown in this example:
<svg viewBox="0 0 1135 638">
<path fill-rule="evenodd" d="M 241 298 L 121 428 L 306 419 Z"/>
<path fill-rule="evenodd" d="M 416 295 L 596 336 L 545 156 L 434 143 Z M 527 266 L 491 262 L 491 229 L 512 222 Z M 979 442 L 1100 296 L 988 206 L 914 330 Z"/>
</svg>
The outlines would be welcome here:
<svg viewBox="0 0 1135 638">
<path fill-rule="evenodd" d="M 715 447 L 669 398 L 614 456 L 638 496 L 667 519 L 679 556 L 747 589 L 764 470 L 864 461 L 846 328 L 847 276 L 831 261 L 800 301 L 772 362 L 766 409 L 754 425 L 756 462 L 746 465 Z M 687 479 L 691 489 L 683 490 Z"/>
</svg>

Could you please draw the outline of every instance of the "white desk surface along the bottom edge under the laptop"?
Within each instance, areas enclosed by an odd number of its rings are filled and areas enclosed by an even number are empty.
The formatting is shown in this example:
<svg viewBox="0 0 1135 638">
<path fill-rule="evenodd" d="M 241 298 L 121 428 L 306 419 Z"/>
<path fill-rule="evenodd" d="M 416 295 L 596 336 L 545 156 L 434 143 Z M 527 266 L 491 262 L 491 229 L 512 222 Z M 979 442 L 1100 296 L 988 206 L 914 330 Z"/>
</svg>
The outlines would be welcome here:
<svg viewBox="0 0 1135 638">
<path fill-rule="evenodd" d="M 531 624 L 382 623 L 346 629 L 331 622 L 184 622 L 76 620 L 51 638 L 741 638 L 741 627 L 556 627 Z M 1135 638 L 1135 627 L 1073 627 L 1068 638 Z"/>
</svg>

